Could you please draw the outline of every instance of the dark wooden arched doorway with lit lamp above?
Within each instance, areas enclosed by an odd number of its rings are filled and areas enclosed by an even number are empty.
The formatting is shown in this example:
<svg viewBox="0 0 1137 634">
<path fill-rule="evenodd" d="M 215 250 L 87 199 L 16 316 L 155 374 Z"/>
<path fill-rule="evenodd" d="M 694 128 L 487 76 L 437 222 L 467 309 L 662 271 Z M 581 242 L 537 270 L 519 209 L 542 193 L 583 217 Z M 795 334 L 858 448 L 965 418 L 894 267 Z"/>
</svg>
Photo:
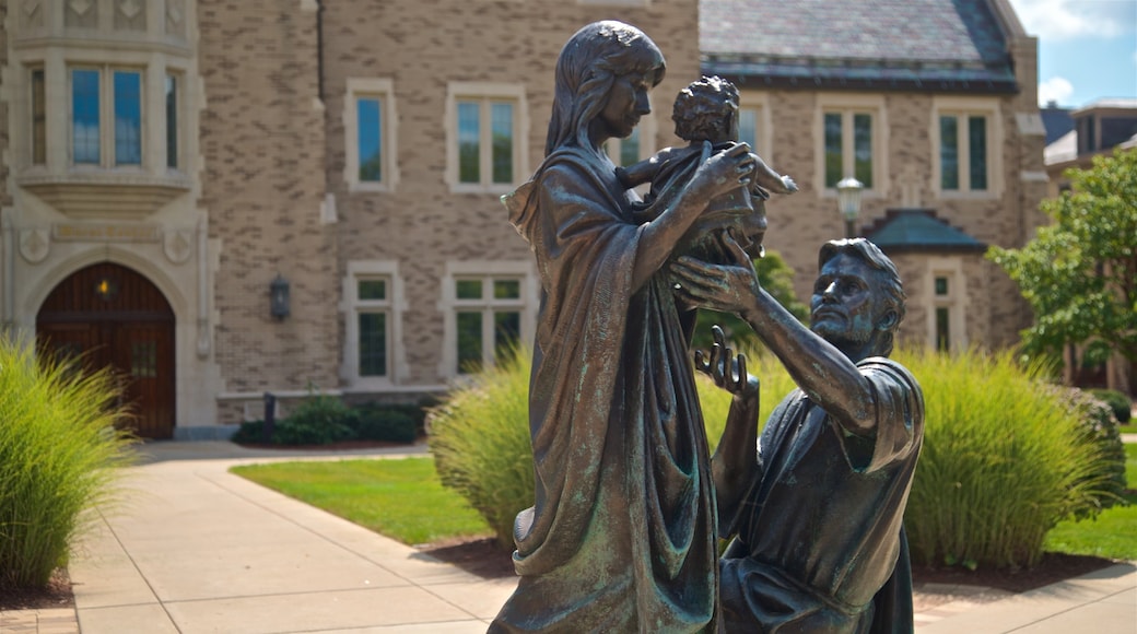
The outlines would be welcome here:
<svg viewBox="0 0 1137 634">
<path fill-rule="evenodd" d="M 138 435 L 174 435 L 174 310 L 153 283 L 110 262 L 80 269 L 43 301 L 35 331 L 48 350 L 126 378 Z"/>
</svg>

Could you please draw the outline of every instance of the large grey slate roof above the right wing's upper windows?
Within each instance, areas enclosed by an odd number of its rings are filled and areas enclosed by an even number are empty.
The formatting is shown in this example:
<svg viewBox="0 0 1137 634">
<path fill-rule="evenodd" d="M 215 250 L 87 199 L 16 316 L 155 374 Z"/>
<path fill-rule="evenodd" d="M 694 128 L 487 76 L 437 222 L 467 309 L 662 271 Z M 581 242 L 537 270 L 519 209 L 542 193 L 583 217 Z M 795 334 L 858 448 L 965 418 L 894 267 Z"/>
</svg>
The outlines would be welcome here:
<svg viewBox="0 0 1137 634">
<path fill-rule="evenodd" d="M 741 85 L 1015 92 L 987 0 L 700 0 L 704 73 Z"/>
</svg>

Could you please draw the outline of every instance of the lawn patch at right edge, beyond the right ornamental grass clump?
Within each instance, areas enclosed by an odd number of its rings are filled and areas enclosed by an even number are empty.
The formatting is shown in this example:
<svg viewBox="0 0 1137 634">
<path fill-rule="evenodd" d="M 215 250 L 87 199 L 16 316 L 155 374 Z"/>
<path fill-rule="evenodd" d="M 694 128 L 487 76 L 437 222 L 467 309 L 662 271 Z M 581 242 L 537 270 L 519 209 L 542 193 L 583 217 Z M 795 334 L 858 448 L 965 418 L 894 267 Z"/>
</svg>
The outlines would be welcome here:
<svg viewBox="0 0 1137 634">
<path fill-rule="evenodd" d="M 1102 511 L 1096 519 L 1063 522 L 1046 535 L 1046 550 L 1137 560 L 1137 444 L 1126 444 L 1124 507 Z"/>
</svg>

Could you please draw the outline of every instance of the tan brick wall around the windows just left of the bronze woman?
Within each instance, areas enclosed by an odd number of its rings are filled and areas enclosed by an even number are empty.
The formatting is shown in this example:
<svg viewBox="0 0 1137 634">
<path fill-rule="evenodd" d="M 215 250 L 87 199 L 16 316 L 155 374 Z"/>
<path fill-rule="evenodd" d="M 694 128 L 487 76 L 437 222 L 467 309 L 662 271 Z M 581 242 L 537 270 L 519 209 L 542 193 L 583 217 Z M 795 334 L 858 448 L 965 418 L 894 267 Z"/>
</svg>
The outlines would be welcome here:
<svg viewBox="0 0 1137 634">
<path fill-rule="evenodd" d="M 406 294 L 404 385 L 438 385 L 443 348 L 439 308 L 447 262 L 531 262 L 499 195 L 451 193 L 446 170 L 446 97 L 451 82 L 520 83 L 529 126 L 529 175 L 543 158 L 561 47 L 581 26 L 619 18 L 663 50 L 667 76 L 653 92 L 659 139 L 671 145 L 671 102 L 698 77 L 697 2 L 646 7 L 565 0 L 327 2 L 324 6 L 327 183 L 339 215 L 339 273 L 352 260 L 398 262 Z M 399 180 L 393 191 L 351 192 L 345 177 L 345 97 L 349 78 L 391 82 L 398 112 Z M 641 124 L 642 125 L 642 124 Z M 399 344 L 396 343 L 396 347 Z"/>
</svg>

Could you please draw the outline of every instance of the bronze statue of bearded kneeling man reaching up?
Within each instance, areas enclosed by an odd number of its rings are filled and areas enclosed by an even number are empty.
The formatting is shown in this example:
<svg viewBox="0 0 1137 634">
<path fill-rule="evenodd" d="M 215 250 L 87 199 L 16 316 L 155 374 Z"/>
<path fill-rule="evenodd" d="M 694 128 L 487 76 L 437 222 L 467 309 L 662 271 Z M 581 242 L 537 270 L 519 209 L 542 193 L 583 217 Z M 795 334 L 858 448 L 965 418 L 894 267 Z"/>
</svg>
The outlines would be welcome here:
<svg viewBox="0 0 1137 634">
<path fill-rule="evenodd" d="M 737 312 L 799 389 L 757 441 L 758 386 L 722 332 L 696 366 L 735 394 L 712 459 L 723 537 L 725 632 L 912 632 L 902 520 L 923 439 L 923 395 L 886 357 L 904 316 L 893 262 L 864 239 L 821 249 L 812 331 L 760 285 L 730 236 L 732 265 L 681 258 L 689 301 Z"/>
</svg>

